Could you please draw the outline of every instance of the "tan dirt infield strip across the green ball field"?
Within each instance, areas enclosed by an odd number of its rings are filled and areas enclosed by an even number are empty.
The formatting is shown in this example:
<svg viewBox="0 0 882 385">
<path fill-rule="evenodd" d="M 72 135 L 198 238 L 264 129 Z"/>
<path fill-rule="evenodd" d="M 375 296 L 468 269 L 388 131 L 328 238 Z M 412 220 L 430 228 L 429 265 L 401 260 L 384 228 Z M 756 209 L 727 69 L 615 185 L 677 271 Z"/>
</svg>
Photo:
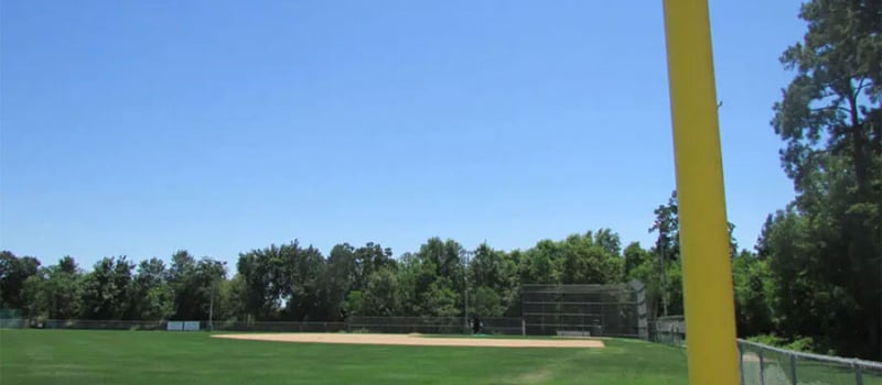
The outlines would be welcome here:
<svg viewBox="0 0 882 385">
<path fill-rule="evenodd" d="M 413 334 L 347 333 L 267 333 L 214 334 L 213 338 L 301 343 L 348 343 L 408 346 L 481 346 L 481 348 L 603 348 L 598 340 L 526 340 L 494 338 L 434 338 Z"/>
</svg>

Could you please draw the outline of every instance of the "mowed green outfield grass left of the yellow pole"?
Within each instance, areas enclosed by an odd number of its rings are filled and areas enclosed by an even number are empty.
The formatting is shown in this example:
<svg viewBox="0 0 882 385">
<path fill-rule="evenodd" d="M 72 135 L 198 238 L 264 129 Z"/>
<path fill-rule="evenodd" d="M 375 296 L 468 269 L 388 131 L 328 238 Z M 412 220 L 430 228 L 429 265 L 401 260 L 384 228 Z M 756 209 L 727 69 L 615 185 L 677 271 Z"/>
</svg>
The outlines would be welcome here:
<svg viewBox="0 0 882 385">
<path fill-rule="evenodd" d="M 0 330 L 0 384 L 686 384 L 684 350 L 343 345 L 205 332 Z"/>
</svg>

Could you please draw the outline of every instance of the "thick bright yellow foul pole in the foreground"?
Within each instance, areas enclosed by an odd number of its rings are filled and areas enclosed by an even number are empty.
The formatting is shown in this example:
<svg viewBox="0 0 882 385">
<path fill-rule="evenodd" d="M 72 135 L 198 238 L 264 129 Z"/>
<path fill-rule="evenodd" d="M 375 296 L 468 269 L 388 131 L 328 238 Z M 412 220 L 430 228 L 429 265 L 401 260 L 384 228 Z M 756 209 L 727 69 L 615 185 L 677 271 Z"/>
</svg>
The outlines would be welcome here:
<svg viewBox="0 0 882 385">
<path fill-rule="evenodd" d="M 690 385 L 738 385 L 732 264 L 707 0 L 665 0 Z"/>
</svg>

